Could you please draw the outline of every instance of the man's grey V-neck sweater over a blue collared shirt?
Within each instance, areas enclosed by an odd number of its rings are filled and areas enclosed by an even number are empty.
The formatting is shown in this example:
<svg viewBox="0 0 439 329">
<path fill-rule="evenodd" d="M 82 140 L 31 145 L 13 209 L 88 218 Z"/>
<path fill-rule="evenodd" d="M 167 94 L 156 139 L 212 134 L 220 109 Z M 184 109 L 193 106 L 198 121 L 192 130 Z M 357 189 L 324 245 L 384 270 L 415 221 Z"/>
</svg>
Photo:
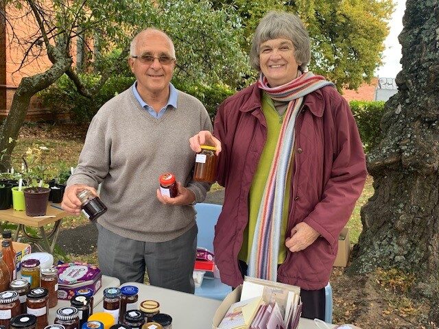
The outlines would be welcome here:
<svg viewBox="0 0 439 329">
<path fill-rule="evenodd" d="M 100 198 L 108 211 L 98 223 L 107 230 L 137 241 L 176 239 L 194 225 L 195 210 L 161 204 L 156 197 L 158 178 L 174 173 L 197 202 L 204 200 L 209 184 L 192 181 L 195 154 L 189 147 L 189 138 L 200 130 L 212 130 L 212 125 L 195 97 L 179 90 L 177 108 L 168 108 L 156 119 L 128 88 L 105 103 L 91 121 L 68 185 L 97 188 L 102 182 Z"/>
</svg>

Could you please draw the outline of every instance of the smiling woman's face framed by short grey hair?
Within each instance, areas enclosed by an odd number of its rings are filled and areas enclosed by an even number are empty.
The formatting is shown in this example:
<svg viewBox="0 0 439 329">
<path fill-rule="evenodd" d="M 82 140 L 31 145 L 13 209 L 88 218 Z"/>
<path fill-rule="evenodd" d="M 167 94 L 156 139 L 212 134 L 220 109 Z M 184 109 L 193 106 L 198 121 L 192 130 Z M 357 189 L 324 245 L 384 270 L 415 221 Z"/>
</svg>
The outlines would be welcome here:
<svg viewBox="0 0 439 329">
<path fill-rule="evenodd" d="M 261 43 L 259 66 L 270 87 L 281 86 L 295 79 L 299 65 L 294 58 L 292 40 L 277 38 Z"/>
</svg>

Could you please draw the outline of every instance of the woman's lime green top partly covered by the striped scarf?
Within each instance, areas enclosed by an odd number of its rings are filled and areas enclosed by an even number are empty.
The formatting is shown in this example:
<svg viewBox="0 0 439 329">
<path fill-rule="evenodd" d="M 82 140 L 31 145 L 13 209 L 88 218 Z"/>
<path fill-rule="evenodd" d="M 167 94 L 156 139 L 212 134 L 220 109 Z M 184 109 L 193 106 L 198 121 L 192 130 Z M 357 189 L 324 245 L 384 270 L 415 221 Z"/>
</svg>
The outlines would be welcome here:
<svg viewBox="0 0 439 329">
<path fill-rule="evenodd" d="M 263 147 L 261 158 L 254 173 L 252 186 L 250 186 L 249 210 L 248 210 L 248 224 L 244 230 L 244 240 L 241 250 L 239 251 L 238 258 L 248 263 L 250 258 L 249 250 L 252 249 L 254 228 L 256 228 L 259 206 L 263 197 L 263 191 L 265 184 L 268 180 L 268 174 L 272 165 L 274 157 L 274 151 L 276 151 L 276 145 L 279 134 L 281 132 L 281 126 L 283 115 L 279 115 L 274 108 L 274 103 L 268 95 L 263 93 L 262 95 L 262 112 L 267 121 L 267 141 Z M 291 181 L 291 168 L 288 171 L 287 182 Z M 290 184 L 285 186 L 285 202 L 283 204 L 282 226 L 281 226 L 281 239 L 279 242 L 279 254 L 278 264 L 282 264 L 287 256 L 287 247 L 285 247 L 285 231 L 287 230 L 288 222 L 288 206 L 289 206 L 289 194 L 291 192 Z"/>
</svg>

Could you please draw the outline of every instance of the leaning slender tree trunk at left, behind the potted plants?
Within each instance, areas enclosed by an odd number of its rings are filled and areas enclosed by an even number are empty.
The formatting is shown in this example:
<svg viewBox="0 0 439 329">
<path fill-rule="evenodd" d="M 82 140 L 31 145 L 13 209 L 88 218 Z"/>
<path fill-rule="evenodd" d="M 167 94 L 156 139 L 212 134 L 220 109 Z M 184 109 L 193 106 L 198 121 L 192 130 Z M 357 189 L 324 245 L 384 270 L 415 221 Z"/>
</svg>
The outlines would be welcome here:
<svg viewBox="0 0 439 329">
<path fill-rule="evenodd" d="M 71 62 L 71 58 L 60 58 L 44 73 L 23 77 L 21 80 L 14 93 L 8 117 L 0 128 L 0 150 L 5 150 L 1 151 L 3 156 L 0 162 L 1 171 L 10 167 L 10 156 L 25 120 L 31 97 L 56 82 L 69 69 Z"/>
</svg>

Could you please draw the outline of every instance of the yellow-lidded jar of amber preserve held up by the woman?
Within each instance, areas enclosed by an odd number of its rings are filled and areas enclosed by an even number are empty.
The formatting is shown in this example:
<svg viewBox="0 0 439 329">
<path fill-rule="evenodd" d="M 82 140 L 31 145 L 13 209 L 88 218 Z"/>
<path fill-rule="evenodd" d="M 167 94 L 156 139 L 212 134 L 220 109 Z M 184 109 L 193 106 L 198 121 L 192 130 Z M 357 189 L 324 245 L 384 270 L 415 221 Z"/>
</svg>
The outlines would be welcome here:
<svg viewBox="0 0 439 329">
<path fill-rule="evenodd" d="M 201 151 L 195 156 L 193 180 L 214 183 L 217 178 L 216 147 L 201 145 Z"/>
</svg>

